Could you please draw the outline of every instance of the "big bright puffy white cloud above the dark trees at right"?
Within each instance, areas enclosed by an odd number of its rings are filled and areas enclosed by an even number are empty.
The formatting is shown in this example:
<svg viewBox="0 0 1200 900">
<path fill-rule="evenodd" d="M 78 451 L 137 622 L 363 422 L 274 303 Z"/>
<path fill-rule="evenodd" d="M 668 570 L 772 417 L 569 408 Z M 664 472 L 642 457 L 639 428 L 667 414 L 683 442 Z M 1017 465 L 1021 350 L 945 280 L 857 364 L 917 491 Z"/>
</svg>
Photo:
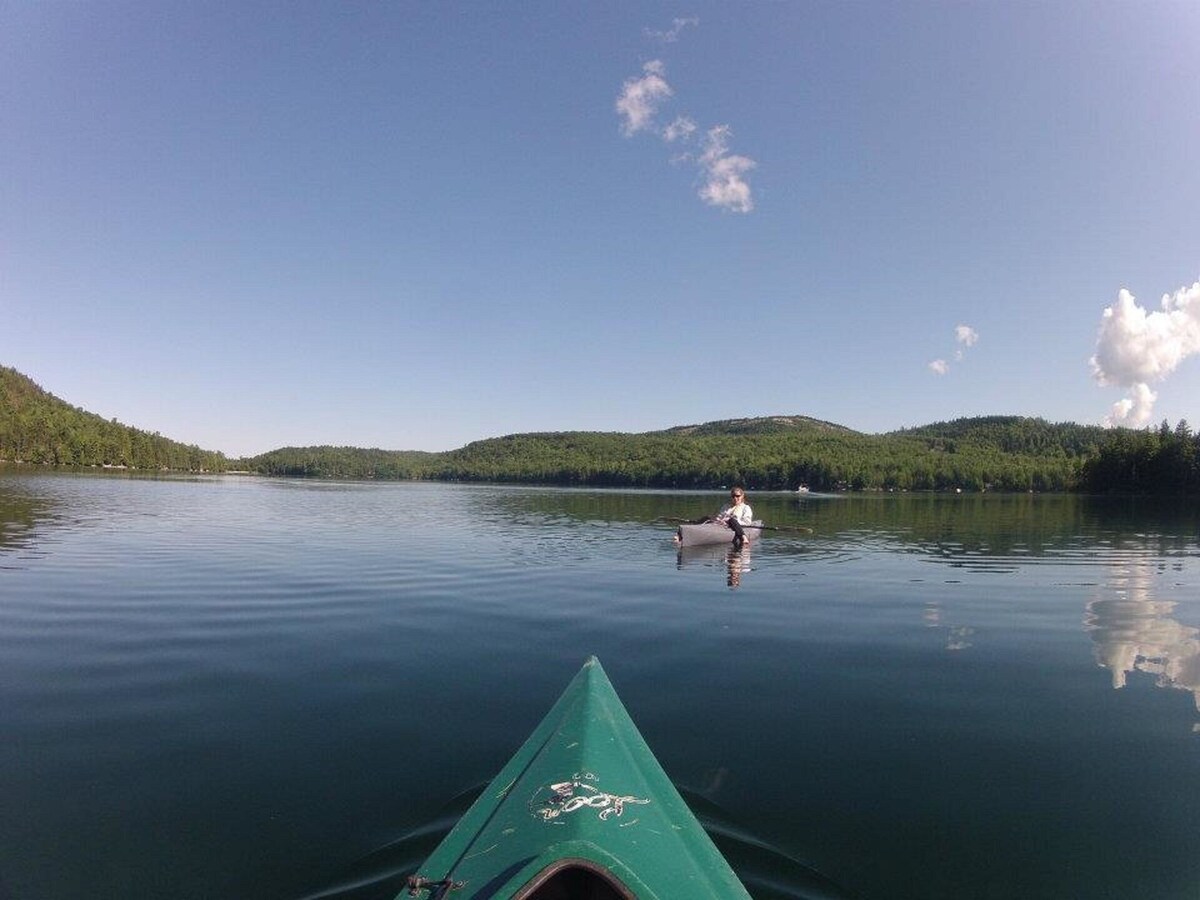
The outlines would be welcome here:
<svg viewBox="0 0 1200 900">
<path fill-rule="evenodd" d="M 1147 311 L 1122 288 L 1100 317 L 1092 376 L 1104 386 L 1128 391 L 1112 404 L 1106 425 L 1148 422 L 1158 400 L 1151 383 L 1165 380 L 1183 360 L 1200 353 L 1200 281 L 1163 294 L 1159 305 L 1160 310 Z"/>
</svg>

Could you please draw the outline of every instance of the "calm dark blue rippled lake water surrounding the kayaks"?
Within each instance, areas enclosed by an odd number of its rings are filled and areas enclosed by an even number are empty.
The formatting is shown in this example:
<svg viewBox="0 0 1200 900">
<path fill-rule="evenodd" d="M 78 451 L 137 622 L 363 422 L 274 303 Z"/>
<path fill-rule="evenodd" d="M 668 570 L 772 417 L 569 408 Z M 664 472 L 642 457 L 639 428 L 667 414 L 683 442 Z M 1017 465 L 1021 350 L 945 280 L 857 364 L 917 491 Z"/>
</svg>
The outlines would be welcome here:
<svg viewBox="0 0 1200 900">
<path fill-rule="evenodd" d="M 0 468 L 0 898 L 391 896 L 589 654 L 757 898 L 1200 896 L 1200 516 Z"/>
</svg>

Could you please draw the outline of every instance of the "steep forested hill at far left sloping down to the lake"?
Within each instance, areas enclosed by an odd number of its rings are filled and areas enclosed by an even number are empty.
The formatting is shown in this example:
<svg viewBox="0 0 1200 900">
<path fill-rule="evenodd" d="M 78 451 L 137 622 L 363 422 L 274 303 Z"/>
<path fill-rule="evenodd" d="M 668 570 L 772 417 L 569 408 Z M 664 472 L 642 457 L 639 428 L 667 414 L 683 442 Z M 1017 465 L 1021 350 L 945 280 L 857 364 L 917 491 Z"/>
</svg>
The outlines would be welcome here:
<svg viewBox="0 0 1200 900">
<path fill-rule="evenodd" d="M 223 454 L 131 428 L 59 400 L 0 366 L 0 461 L 224 472 Z"/>
</svg>

